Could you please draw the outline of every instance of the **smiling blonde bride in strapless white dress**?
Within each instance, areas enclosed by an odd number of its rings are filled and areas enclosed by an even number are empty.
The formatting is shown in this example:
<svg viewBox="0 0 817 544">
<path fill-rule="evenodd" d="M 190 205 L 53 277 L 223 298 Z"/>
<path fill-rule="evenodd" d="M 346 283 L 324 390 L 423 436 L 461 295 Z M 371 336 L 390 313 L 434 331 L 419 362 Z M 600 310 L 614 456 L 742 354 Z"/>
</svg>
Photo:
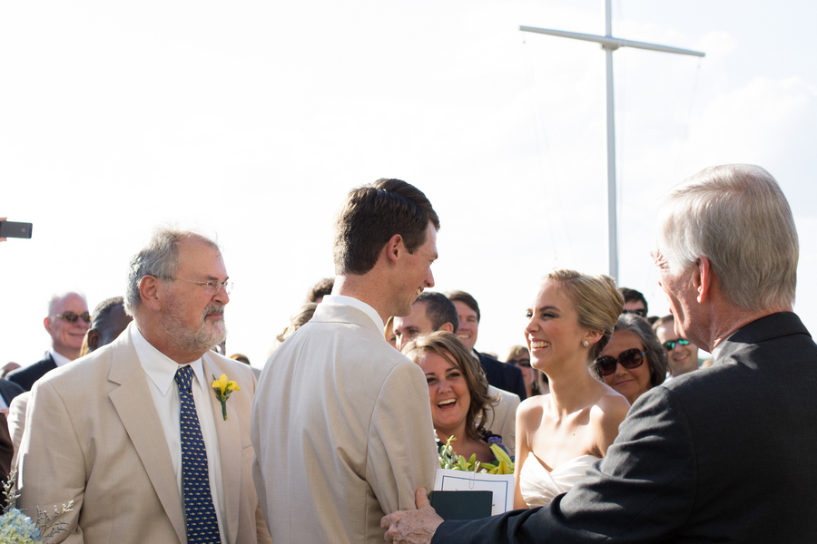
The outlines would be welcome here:
<svg viewBox="0 0 817 544">
<path fill-rule="evenodd" d="M 630 404 L 590 374 L 624 304 L 612 278 L 554 270 L 527 310 L 531 365 L 550 393 L 517 409 L 514 508 L 544 506 L 605 456 Z"/>
</svg>

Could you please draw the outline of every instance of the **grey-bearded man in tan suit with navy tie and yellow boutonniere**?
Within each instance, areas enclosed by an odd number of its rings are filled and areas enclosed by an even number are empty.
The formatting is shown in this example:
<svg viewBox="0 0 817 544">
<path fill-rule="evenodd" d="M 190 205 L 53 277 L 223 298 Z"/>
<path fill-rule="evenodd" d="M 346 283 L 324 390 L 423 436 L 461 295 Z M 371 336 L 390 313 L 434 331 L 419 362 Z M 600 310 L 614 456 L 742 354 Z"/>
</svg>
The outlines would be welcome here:
<svg viewBox="0 0 817 544">
<path fill-rule="evenodd" d="M 51 541 L 271 542 L 251 477 L 255 378 L 210 351 L 226 335 L 227 279 L 212 240 L 157 231 L 131 262 L 125 304 L 133 323 L 113 344 L 34 385 L 19 505 L 32 513 L 74 500 L 67 532 Z M 226 419 L 212 388 L 221 374 L 238 385 Z M 185 407 L 195 423 L 180 422 Z M 196 472 L 191 448 L 201 456 Z M 208 512 L 204 529 L 199 508 Z"/>
</svg>

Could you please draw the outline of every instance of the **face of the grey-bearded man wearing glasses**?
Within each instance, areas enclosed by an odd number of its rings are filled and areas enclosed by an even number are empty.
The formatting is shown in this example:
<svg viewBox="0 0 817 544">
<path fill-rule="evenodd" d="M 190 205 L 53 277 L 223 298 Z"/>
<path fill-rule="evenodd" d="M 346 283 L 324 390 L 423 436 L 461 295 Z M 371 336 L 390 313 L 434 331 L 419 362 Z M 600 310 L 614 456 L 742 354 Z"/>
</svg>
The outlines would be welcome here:
<svg viewBox="0 0 817 544">
<path fill-rule="evenodd" d="M 176 281 L 165 283 L 162 325 L 176 348 L 201 352 L 201 356 L 227 336 L 224 306 L 230 296 L 223 288 L 211 295 L 204 286 L 183 280 L 224 282 L 227 269 L 217 249 L 198 240 L 186 240 L 180 249 L 176 277 Z"/>
</svg>

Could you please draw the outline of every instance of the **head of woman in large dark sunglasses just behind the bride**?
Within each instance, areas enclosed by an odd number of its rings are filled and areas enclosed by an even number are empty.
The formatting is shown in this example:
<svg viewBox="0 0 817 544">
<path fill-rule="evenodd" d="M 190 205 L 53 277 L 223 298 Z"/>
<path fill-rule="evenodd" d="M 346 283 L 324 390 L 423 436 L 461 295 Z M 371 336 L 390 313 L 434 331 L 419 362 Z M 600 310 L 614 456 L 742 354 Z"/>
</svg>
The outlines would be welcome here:
<svg viewBox="0 0 817 544">
<path fill-rule="evenodd" d="M 666 377 L 666 351 L 641 316 L 622 314 L 613 337 L 591 366 L 596 378 L 625 396 L 630 404 Z"/>
</svg>

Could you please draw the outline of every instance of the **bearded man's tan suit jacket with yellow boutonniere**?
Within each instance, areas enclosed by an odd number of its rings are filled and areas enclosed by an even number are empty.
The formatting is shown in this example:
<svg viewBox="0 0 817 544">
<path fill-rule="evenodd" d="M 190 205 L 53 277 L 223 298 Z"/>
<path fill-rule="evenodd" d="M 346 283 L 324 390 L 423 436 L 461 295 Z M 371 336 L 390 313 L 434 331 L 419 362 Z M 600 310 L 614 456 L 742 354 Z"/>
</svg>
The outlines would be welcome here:
<svg viewBox="0 0 817 544">
<path fill-rule="evenodd" d="M 271 542 L 251 475 L 255 377 L 246 364 L 213 352 L 203 366 L 206 375 L 227 374 L 241 388 L 227 401 L 226 421 L 221 403 L 212 401 L 226 538 Z M 129 334 L 34 384 L 17 462 L 19 506 L 35 512 L 74 500 L 64 517 L 68 532 L 54 542 L 187 542 L 171 454 Z"/>
</svg>

